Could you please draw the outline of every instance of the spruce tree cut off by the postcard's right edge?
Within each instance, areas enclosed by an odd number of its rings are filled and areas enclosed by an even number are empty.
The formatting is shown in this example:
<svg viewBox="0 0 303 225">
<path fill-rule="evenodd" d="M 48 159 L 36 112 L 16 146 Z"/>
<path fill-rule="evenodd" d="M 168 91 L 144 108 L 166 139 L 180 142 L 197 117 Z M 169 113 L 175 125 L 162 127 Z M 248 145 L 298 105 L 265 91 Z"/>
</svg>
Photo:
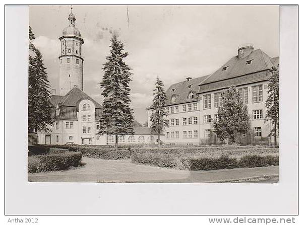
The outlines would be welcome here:
<svg viewBox="0 0 303 225">
<path fill-rule="evenodd" d="M 267 121 L 270 120 L 274 125 L 269 136 L 274 136 L 274 144 L 277 145 L 277 130 L 279 129 L 279 66 L 272 67 L 267 94 L 265 119 Z"/>
</svg>

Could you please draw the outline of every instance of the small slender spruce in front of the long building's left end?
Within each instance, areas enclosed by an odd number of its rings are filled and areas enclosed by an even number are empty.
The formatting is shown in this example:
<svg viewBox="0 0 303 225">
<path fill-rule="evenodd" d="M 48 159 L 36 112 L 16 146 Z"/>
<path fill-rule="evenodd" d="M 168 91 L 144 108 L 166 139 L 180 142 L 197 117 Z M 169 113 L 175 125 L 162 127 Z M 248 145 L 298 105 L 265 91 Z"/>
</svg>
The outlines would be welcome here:
<svg viewBox="0 0 303 225">
<path fill-rule="evenodd" d="M 160 134 L 164 131 L 164 128 L 168 126 L 167 121 L 164 116 L 167 116 L 167 112 L 164 108 L 166 94 L 163 89 L 164 84 L 157 77 L 155 83 L 154 99 L 153 99 L 153 112 L 150 116 L 150 121 L 152 122 L 150 128 L 152 134 L 158 134 L 158 145 L 160 146 Z"/>
</svg>

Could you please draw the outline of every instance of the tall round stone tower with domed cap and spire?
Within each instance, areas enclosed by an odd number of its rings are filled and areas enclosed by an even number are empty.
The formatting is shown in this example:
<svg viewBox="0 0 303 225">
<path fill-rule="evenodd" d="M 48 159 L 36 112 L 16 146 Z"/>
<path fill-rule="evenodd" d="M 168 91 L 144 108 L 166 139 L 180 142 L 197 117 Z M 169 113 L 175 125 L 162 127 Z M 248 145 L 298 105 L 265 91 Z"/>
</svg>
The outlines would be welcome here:
<svg viewBox="0 0 303 225">
<path fill-rule="evenodd" d="M 59 94 L 66 95 L 75 86 L 83 91 L 83 57 L 81 46 L 84 43 L 80 31 L 75 27 L 73 8 L 69 15 L 69 26 L 59 37 Z"/>
</svg>

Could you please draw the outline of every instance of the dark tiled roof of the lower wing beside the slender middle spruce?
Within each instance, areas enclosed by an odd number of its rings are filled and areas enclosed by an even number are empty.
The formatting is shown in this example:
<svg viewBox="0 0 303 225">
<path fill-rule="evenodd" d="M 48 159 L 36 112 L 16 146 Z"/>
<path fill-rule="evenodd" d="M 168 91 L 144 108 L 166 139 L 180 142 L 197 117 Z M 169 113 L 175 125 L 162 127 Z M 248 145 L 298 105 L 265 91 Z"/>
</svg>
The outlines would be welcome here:
<svg viewBox="0 0 303 225">
<path fill-rule="evenodd" d="M 200 77 L 200 78 L 194 78 L 190 81 L 183 81 L 176 84 L 171 85 L 166 93 L 166 101 L 165 106 L 169 105 L 177 105 L 181 103 L 187 103 L 187 102 L 195 102 L 199 100 L 199 97 L 194 95 L 194 98 L 189 99 L 189 93 L 192 91 L 194 94 L 199 91 L 199 84 L 204 81 L 208 76 Z M 174 91 L 173 91 L 174 90 Z M 176 101 L 171 102 L 171 97 L 176 96 Z M 153 105 L 148 107 L 147 109 L 152 109 Z"/>
</svg>

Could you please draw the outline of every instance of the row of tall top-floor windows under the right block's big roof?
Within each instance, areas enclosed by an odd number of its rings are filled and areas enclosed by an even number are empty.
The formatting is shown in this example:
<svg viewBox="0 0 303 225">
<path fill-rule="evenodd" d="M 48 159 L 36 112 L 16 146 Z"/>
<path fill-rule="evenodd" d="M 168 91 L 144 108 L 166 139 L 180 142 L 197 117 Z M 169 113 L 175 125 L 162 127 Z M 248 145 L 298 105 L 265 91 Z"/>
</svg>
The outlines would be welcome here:
<svg viewBox="0 0 303 225">
<path fill-rule="evenodd" d="M 248 103 L 248 88 L 238 89 L 240 101 L 247 104 Z M 252 86 L 252 102 L 262 102 L 263 101 L 263 85 Z M 222 106 L 222 92 L 214 93 L 214 108 Z M 211 94 L 203 95 L 203 108 L 211 108 Z"/>
</svg>

